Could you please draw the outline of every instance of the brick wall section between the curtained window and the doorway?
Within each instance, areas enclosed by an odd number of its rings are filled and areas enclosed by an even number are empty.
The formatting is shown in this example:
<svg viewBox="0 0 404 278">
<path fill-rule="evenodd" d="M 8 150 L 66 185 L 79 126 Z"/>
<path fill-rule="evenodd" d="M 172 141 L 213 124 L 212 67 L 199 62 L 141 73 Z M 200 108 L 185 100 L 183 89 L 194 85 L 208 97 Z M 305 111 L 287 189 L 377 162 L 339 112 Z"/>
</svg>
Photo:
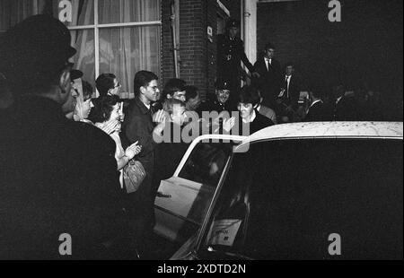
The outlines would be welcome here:
<svg viewBox="0 0 404 278">
<path fill-rule="evenodd" d="M 223 2 L 231 13 L 240 14 L 240 0 Z M 180 78 L 197 86 L 203 98 L 215 90 L 218 9 L 216 0 L 180 0 Z M 170 14 L 170 1 L 162 0 L 162 83 L 175 75 Z M 208 25 L 214 32 L 212 42 Z"/>
</svg>

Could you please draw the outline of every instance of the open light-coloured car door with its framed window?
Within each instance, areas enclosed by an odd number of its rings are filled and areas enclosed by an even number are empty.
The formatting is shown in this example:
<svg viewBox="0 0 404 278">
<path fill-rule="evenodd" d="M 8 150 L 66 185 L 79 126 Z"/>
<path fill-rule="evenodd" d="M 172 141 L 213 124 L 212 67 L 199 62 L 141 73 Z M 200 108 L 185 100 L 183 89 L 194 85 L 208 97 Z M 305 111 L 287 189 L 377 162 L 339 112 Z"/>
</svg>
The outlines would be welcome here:
<svg viewBox="0 0 404 278">
<path fill-rule="evenodd" d="M 156 234 L 182 244 L 196 233 L 232 150 L 233 142 L 214 140 L 212 135 L 189 146 L 173 176 L 161 181 L 161 194 L 154 202 Z"/>
</svg>

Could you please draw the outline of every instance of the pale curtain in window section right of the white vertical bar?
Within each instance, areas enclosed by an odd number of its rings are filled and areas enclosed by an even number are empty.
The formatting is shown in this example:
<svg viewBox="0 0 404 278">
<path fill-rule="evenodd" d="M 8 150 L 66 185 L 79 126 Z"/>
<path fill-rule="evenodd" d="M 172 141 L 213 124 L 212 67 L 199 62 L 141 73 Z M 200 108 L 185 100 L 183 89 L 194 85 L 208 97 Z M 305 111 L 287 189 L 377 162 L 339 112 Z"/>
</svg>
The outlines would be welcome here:
<svg viewBox="0 0 404 278">
<path fill-rule="evenodd" d="M 100 24 L 160 20 L 159 0 L 100 0 Z M 136 26 L 100 30 L 100 74 L 116 74 L 125 92 L 134 92 L 137 71 L 160 75 L 160 27 Z"/>
</svg>

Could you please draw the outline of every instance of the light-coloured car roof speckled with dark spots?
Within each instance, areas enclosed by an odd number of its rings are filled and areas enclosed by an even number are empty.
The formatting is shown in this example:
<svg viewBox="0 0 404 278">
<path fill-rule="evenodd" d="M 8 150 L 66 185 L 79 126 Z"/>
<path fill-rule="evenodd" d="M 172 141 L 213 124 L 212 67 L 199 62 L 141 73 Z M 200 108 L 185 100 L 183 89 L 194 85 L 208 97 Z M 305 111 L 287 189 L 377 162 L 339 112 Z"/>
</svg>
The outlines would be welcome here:
<svg viewBox="0 0 404 278">
<path fill-rule="evenodd" d="M 402 140 L 402 137 L 402 122 L 312 122 L 269 126 L 250 135 L 243 143 L 294 138 L 395 138 Z"/>
</svg>

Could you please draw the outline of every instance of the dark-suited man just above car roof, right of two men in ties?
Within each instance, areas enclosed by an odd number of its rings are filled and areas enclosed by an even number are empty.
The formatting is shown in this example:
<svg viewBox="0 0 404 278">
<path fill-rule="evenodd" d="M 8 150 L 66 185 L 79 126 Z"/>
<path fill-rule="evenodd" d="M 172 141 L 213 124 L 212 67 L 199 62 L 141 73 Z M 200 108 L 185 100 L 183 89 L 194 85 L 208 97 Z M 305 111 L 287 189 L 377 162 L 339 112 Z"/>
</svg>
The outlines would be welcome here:
<svg viewBox="0 0 404 278">
<path fill-rule="evenodd" d="M 324 122 L 332 120 L 331 111 L 329 107 L 324 104 L 322 92 L 319 89 L 313 88 L 310 91 L 310 100 L 312 104 L 307 111 L 306 117 L 304 117 L 305 122 Z"/>
</svg>

